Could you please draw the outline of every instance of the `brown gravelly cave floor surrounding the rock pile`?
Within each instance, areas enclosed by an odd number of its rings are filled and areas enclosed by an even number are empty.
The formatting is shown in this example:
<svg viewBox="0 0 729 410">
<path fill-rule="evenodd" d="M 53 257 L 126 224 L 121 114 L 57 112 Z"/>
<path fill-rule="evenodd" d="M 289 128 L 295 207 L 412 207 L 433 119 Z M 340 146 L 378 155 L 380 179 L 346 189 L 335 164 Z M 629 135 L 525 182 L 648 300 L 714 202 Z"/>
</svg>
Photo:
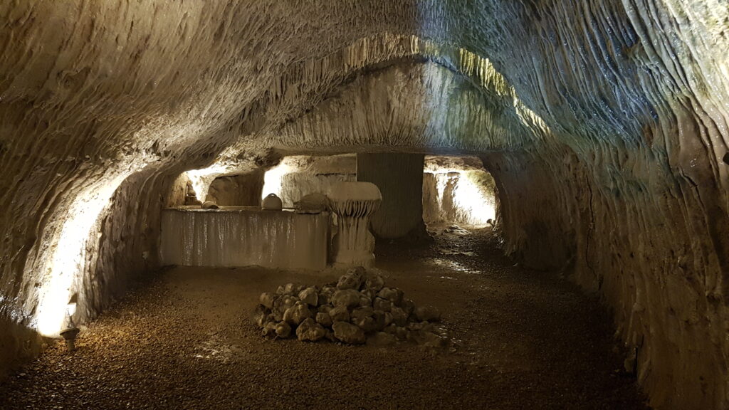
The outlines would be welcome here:
<svg viewBox="0 0 729 410">
<path fill-rule="evenodd" d="M 178 267 L 1 384 L 0 409 L 646 409 L 599 302 L 489 229 L 381 245 L 378 267 L 440 308 L 453 349 L 262 339 L 260 293 L 336 273 Z"/>
</svg>

